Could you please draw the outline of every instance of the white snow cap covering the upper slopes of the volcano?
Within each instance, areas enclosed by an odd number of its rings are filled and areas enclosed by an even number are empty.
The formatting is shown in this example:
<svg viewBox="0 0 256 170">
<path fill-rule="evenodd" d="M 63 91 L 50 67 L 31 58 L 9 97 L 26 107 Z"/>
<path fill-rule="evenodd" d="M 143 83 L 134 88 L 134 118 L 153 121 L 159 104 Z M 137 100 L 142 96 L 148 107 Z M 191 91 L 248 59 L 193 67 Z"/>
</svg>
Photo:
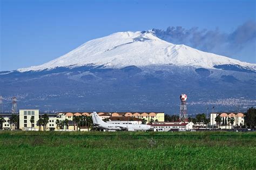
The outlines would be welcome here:
<svg viewBox="0 0 256 170">
<path fill-rule="evenodd" d="M 256 70 L 256 64 L 203 52 L 186 45 L 175 45 L 154 36 L 151 31 L 117 32 L 90 40 L 48 63 L 18 69 L 20 72 L 54 69 L 60 66 L 105 65 L 120 68 L 173 64 L 214 69 L 214 65 L 240 65 Z"/>
</svg>

